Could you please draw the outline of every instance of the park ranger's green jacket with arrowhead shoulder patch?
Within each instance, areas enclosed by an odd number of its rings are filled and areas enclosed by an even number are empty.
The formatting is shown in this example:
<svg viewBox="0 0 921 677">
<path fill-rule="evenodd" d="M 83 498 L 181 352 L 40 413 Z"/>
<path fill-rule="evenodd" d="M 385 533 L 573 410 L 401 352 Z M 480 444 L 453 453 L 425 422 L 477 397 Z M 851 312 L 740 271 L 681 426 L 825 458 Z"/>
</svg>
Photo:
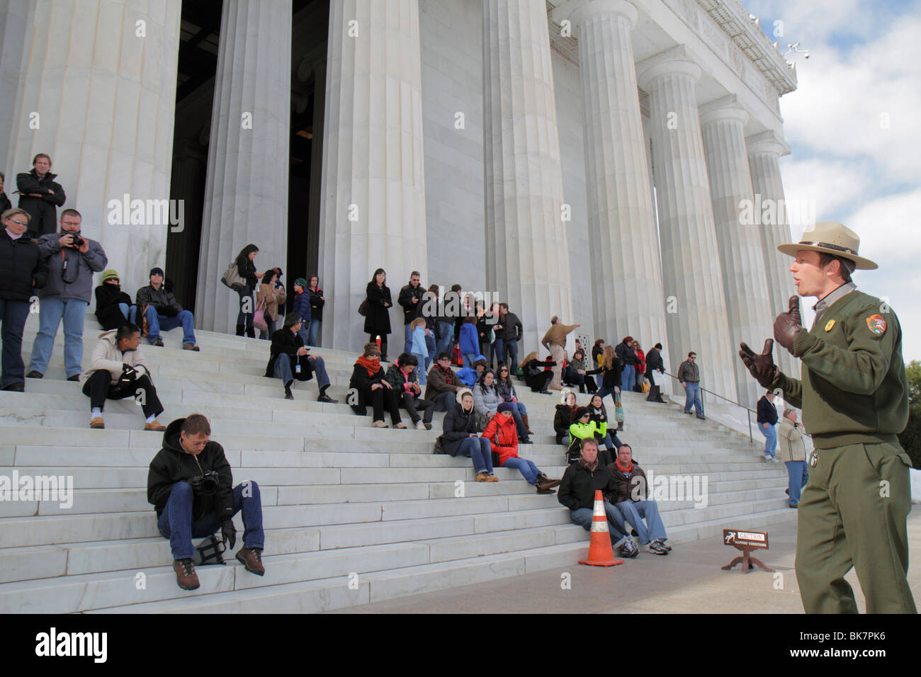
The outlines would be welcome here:
<svg viewBox="0 0 921 677">
<path fill-rule="evenodd" d="M 908 424 L 902 328 L 879 298 L 852 291 L 837 299 L 793 354 L 802 379 L 779 374 L 772 388 L 803 412 L 816 449 L 886 442 L 899 447 Z"/>
</svg>

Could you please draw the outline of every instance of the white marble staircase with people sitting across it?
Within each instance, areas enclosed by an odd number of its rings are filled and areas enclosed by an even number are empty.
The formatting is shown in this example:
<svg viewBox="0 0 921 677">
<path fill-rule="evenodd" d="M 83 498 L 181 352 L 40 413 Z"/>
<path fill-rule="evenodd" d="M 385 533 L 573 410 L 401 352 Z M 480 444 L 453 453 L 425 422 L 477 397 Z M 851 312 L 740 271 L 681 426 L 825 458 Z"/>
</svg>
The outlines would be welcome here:
<svg viewBox="0 0 921 677">
<path fill-rule="evenodd" d="M 37 328 L 30 316 L 27 369 Z M 87 315 L 84 365 L 99 331 Z M 207 415 L 235 483 L 260 484 L 265 576 L 230 556 L 227 566 L 198 567 L 201 588 L 176 585 L 169 543 L 146 503 L 147 464 L 162 434 L 142 430 L 133 400 L 107 403 L 106 429 L 90 430 L 87 397 L 64 380 L 59 332 L 45 378 L 27 379 L 25 393 L 0 392 L 0 475 L 72 476 L 73 506 L 0 501 L 0 613 L 318 612 L 577 566 L 588 532 L 569 522 L 556 496 L 536 495 L 502 468 L 498 483 L 478 484 L 469 459 L 432 453 L 444 414 L 431 431 L 372 428 L 344 403 L 317 403 L 315 381 L 298 383 L 286 401 L 280 381 L 262 376 L 268 342 L 196 333 L 199 353 L 181 350 L 180 330 L 164 334 L 163 348 L 145 345 L 166 408 L 161 422 Z M 344 402 L 356 356 L 315 352 L 326 359 L 330 394 Z M 519 450 L 560 476 L 557 398 L 519 394 L 537 433 Z M 647 471 L 707 478 L 705 508 L 660 504 L 670 543 L 795 516 L 784 467 L 765 464 L 747 438 L 635 393 L 624 395 L 624 409 L 621 438 Z M 650 556 L 628 561 L 632 576 L 642 576 Z"/>
</svg>

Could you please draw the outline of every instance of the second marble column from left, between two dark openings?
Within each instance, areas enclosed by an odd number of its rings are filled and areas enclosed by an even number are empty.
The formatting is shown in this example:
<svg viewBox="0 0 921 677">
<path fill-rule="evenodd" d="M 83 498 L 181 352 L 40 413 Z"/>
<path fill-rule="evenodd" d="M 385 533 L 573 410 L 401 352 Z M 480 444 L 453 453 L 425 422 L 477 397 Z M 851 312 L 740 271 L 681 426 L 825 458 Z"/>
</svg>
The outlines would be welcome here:
<svg viewBox="0 0 921 677">
<path fill-rule="evenodd" d="M 220 284 L 240 250 L 285 267 L 291 134 L 291 0 L 225 0 L 211 112 L 195 325 L 232 332 L 239 297 Z"/>
</svg>

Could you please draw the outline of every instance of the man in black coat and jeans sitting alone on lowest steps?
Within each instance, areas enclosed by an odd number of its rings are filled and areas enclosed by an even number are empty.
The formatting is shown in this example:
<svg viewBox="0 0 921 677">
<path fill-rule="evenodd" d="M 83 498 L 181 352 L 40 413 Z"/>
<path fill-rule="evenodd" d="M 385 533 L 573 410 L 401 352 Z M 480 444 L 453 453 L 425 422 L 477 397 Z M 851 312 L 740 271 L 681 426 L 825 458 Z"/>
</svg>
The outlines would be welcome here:
<svg viewBox="0 0 921 677">
<path fill-rule="evenodd" d="M 259 485 L 247 480 L 233 486 L 224 448 L 210 436 L 211 426 L 202 414 L 177 418 L 167 426 L 163 448 L 147 473 L 147 502 L 157 509 L 157 530 L 169 538 L 176 583 L 184 590 L 199 587 L 192 539 L 220 529 L 224 545 L 232 550 L 237 543 L 233 516 L 240 510 L 244 531 L 237 559 L 256 576 L 265 573 Z"/>
</svg>

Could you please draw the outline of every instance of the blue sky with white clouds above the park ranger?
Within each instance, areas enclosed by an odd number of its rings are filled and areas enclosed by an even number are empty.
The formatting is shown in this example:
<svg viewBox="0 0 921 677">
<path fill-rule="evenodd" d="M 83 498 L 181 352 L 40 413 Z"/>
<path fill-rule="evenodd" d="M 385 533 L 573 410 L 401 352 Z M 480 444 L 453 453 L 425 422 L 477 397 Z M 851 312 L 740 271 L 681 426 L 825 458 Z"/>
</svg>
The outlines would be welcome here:
<svg viewBox="0 0 921 677">
<path fill-rule="evenodd" d="M 742 0 L 781 52 L 799 42 L 799 88 L 780 99 L 788 201 L 857 231 L 880 264 L 857 286 L 888 298 L 905 361 L 921 359 L 921 0 Z M 783 35 L 775 36 L 775 20 Z M 802 222 L 791 222 L 799 239 Z M 809 299 L 804 305 L 811 305 Z M 807 313 L 811 321 L 811 313 Z"/>
</svg>

